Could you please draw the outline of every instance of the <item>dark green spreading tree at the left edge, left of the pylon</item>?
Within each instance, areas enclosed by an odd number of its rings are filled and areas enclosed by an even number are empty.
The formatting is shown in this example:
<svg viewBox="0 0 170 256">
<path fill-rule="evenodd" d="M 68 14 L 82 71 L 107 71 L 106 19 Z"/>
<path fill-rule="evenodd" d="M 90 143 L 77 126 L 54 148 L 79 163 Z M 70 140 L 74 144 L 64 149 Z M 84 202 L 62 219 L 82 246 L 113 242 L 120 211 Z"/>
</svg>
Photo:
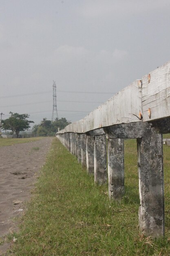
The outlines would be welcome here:
<svg viewBox="0 0 170 256">
<path fill-rule="evenodd" d="M 31 123 L 34 123 L 33 121 L 29 121 L 27 118 L 29 118 L 28 114 L 21 114 L 9 112 L 11 114 L 11 117 L 8 119 L 2 120 L 2 129 L 3 130 L 12 130 L 13 133 L 16 134 L 16 137 L 19 137 L 19 132 L 28 130 L 30 128 Z"/>
</svg>

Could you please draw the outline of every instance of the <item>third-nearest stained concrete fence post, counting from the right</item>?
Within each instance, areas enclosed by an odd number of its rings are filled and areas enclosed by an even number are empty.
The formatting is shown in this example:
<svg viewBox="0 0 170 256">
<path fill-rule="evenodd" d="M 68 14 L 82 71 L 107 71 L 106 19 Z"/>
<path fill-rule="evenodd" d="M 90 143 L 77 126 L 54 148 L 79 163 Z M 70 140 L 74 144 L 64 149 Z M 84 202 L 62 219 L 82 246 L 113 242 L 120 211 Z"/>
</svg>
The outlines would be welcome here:
<svg viewBox="0 0 170 256">
<path fill-rule="evenodd" d="M 94 175 L 95 175 L 95 182 L 99 184 L 104 184 L 107 182 L 106 135 L 95 136 Z"/>
</svg>

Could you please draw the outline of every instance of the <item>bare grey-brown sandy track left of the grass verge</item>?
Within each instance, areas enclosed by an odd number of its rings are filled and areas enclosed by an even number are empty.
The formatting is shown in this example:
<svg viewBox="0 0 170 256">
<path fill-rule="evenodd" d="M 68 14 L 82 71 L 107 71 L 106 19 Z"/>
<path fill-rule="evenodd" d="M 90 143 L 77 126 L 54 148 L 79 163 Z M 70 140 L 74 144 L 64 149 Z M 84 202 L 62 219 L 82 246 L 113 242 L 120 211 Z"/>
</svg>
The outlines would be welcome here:
<svg viewBox="0 0 170 256">
<path fill-rule="evenodd" d="M 0 147 L 0 237 L 17 231 L 14 217 L 25 211 L 24 203 L 31 196 L 52 139 Z M 0 246 L 0 255 L 9 247 L 7 243 Z"/>
</svg>

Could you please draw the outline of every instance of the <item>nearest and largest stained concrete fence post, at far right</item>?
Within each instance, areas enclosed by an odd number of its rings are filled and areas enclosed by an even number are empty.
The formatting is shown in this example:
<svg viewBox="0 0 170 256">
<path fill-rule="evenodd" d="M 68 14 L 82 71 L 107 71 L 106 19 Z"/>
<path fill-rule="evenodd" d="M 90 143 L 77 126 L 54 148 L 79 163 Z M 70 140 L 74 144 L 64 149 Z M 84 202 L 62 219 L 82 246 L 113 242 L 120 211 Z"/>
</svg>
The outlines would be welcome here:
<svg viewBox="0 0 170 256">
<path fill-rule="evenodd" d="M 164 235 L 162 135 L 155 128 L 137 139 L 139 166 L 139 228 L 146 236 Z"/>
</svg>

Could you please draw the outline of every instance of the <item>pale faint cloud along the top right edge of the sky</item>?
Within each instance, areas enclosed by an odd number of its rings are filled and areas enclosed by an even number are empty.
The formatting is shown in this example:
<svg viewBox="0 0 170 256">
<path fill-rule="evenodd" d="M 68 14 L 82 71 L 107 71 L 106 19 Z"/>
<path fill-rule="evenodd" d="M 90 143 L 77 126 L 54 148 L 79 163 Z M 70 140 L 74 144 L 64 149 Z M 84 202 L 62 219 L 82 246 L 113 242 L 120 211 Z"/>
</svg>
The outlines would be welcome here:
<svg viewBox="0 0 170 256">
<path fill-rule="evenodd" d="M 132 15 L 135 13 L 146 13 L 148 11 L 160 10 L 170 7 L 169 0 L 87 0 L 84 5 L 77 8 L 79 15 L 86 18 L 98 18 L 102 16 Z"/>
</svg>

